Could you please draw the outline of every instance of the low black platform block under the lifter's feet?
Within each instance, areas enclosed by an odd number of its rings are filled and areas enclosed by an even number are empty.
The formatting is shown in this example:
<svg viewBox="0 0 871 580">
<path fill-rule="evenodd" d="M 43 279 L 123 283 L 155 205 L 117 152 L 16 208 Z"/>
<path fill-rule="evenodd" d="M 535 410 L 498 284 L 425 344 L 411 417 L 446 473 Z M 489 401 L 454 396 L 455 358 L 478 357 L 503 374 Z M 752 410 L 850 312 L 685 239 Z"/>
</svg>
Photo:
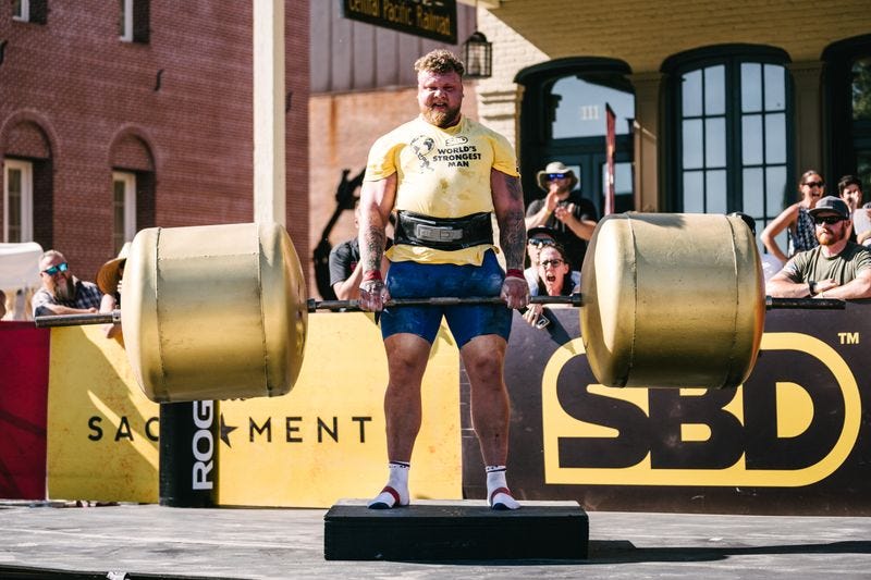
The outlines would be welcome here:
<svg viewBox="0 0 871 580">
<path fill-rule="evenodd" d="M 494 511 L 483 501 L 413 501 L 369 509 L 343 499 L 324 520 L 328 560 L 585 559 L 587 513 L 577 502 L 520 502 Z"/>
</svg>

